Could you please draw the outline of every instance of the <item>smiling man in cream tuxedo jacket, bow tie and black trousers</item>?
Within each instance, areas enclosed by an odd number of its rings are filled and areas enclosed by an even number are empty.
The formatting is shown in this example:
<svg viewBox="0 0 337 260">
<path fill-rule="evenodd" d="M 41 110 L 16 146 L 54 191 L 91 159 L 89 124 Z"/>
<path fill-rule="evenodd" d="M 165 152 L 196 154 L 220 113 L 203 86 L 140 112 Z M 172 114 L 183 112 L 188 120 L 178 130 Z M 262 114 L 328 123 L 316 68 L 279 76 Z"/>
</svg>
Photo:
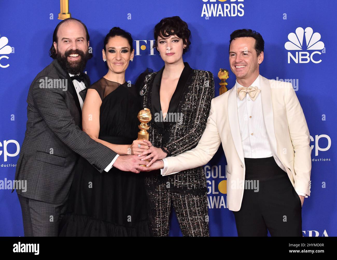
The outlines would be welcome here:
<svg viewBox="0 0 337 260">
<path fill-rule="evenodd" d="M 302 236 L 301 210 L 310 196 L 310 135 L 292 84 L 259 75 L 263 51 L 259 33 L 231 34 L 235 86 L 212 100 L 194 149 L 150 162 L 149 170 L 163 168 L 161 174 L 167 175 L 205 165 L 222 143 L 227 206 L 238 235 L 266 236 L 268 229 L 272 236 Z"/>
</svg>

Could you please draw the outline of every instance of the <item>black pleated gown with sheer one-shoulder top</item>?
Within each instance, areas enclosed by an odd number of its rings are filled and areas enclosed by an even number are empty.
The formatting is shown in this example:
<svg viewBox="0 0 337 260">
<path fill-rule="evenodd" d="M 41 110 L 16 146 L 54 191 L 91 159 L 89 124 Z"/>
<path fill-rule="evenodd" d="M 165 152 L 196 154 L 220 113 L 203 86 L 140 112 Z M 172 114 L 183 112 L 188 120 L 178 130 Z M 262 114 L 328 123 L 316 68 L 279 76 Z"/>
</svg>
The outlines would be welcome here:
<svg viewBox="0 0 337 260">
<path fill-rule="evenodd" d="M 137 114 L 143 107 L 134 85 L 101 78 L 90 89 L 102 99 L 98 138 L 114 144 L 137 139 Z M 144 174 L 116 167 L 100 173 L 80 157 L 60 236 L 150 236 Z"/>
</svg>

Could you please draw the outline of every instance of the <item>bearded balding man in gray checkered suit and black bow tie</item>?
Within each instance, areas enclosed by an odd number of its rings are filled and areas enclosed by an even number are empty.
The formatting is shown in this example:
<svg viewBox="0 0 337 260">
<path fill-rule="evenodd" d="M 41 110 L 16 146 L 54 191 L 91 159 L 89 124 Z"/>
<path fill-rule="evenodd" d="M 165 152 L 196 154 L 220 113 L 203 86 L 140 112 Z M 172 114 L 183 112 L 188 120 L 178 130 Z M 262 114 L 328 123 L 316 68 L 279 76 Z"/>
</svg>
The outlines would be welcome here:
<svg viewBox="0 0 337 260">
<path fill-rule="evenodd" d="M 140 157 L 119 156 L 82 131 L 82 106 L 90 86 L 83 70 L 92 54 L 80 20 L 68 18 L 57 25 L 50 56 L 54 61 L 29 88 L 27 129 L 15 173 L 16 180 L 27 181 L 25 192 L 17 189 L 25 236 L 58 235 L 79 156 L 97 174 L 112 167 L 139 173 L 144 165 Z"/>
</svg>

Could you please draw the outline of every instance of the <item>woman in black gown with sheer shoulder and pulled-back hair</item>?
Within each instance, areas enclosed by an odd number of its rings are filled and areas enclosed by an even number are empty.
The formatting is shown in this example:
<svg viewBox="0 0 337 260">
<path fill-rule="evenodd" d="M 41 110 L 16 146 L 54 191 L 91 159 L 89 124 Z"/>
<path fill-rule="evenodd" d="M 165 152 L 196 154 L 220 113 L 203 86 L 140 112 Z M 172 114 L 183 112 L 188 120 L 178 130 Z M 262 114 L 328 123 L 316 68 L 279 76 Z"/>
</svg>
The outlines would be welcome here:
<svg viewBox="0 0 337 260">
<path fill-rule="evenodd" d="M 83 106 L 83 131 L 119 155 L 134 154 L 138 112 L 143 108 L 137 90 L 125 82 L 133 59 L 131 35 L 114 27 L 104 39 L 103 60 L 108 73 L 88 89 Z M 133 141 L 135 140 L 135 141 Z M 80 157 L 70 189 L 60 236 L 150 236 L 144 172 L 112 167 L 99 173 Z"/>
</svg>

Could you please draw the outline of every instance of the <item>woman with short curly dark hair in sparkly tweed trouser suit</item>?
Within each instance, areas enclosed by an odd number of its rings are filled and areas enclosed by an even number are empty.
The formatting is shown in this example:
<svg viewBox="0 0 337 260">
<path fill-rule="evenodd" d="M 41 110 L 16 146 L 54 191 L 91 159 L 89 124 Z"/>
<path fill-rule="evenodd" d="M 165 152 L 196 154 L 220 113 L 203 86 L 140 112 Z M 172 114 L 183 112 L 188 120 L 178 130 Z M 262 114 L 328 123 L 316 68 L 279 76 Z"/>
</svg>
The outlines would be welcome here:
<svg viewBox="0 0 337 260">
<path fill-rule="evenodd" d="M 154 47 L 165 65 L 158 72 L 141 74 L 136 83 L 144 107 L 152 114 L 149 141 L 144 141 L 136 154 L 148 154 L 147 158 L 152 158 L 150 164 L 197 145 L 214 98 L 212 72 L 191 69 L 183 62 L 182 55 L 190 45 L 187 24 L 178 16 L 164 18 L 155 26 L 154 38 Z M 168 235 L 172 204 L 184 236 L 209 236 L 203 167 L 168 176 L 161 176 L 160 171 L 147 174 L 153 234 Z"/>
</svg>

